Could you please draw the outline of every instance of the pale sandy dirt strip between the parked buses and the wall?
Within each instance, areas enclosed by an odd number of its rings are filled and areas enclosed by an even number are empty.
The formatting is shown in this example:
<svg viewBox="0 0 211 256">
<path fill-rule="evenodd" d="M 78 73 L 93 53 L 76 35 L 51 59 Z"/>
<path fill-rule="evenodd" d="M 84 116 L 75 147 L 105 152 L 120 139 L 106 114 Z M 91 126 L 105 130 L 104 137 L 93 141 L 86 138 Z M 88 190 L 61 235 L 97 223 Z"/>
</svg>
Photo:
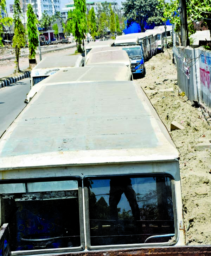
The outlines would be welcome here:
<svg viewBox="0 0 211 256">
<path fill-rule="evenodd" d="M 211 142 L 211 118 L 203 108 L 191 106 L 178 88 L 170 49 L 146 62 L 146 76 L 136 81 L 169 131 L 172 121 L 184 127 L 170 135 L 180 151 L 186 244 L 211 244 L 211 151 L 194 149 Z"/>
</svg>

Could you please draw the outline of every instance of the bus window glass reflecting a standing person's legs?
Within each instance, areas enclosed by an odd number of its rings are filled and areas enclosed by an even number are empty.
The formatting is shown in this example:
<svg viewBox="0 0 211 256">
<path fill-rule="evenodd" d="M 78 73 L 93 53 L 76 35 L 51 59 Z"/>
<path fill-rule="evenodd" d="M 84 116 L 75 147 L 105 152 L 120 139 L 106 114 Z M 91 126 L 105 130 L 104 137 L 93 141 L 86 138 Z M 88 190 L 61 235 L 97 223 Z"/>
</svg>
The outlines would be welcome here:
<svg viewBox="0 0 211 256">
<path fill-rule="evenodd" d="M 171 179 L 87 179 L 90 246 L 168 242 L 174 236 Z"/>
</svg>

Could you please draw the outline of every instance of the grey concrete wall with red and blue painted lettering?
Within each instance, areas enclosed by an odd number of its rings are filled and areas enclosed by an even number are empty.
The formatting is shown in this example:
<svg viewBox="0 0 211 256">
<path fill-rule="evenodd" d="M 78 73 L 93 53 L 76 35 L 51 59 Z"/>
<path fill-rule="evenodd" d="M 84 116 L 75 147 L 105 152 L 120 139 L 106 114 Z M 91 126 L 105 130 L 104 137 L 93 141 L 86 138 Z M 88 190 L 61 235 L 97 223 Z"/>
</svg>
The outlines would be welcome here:
<svg viewBox="0 0 211 256">
<path fill-rule="evenodd" d="M 211 51 L 179 46 L 175 60 L 179 88 L 190 101 L 211 108 Z"/>
</svg>

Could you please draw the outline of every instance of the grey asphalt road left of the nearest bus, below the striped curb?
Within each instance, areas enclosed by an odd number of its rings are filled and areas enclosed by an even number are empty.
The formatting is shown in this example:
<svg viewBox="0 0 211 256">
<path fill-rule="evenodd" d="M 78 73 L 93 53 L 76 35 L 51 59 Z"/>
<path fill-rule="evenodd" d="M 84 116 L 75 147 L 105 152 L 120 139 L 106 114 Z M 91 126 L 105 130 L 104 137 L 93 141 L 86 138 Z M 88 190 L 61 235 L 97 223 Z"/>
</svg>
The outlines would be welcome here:
<svg viewBox="0 0 211 256">
<path fill-rule="evenodd" d="M 24 100 L 30 90 L 30 78 L 0 89 L 0 136 L 26 106 Z"/>
</svg>

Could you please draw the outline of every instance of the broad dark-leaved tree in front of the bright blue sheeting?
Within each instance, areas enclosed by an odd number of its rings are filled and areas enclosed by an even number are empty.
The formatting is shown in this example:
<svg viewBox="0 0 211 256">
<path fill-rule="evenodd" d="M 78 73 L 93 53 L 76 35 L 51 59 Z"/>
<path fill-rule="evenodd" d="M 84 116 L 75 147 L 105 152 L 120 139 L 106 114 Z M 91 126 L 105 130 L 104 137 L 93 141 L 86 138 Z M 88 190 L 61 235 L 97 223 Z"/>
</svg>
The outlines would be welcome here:
<svg viewBox="0 0 211 256">
<path fill-rule="evenodd" d="M 158 0 L 128 0 L 122 2 L 123 13 L 127 18 L 127 26 L 133 22 L 144 29 L 144 22 L 148 24 L 160 24 L 162 22 L 162 10 L 156 8 Z"/>
</svg>

